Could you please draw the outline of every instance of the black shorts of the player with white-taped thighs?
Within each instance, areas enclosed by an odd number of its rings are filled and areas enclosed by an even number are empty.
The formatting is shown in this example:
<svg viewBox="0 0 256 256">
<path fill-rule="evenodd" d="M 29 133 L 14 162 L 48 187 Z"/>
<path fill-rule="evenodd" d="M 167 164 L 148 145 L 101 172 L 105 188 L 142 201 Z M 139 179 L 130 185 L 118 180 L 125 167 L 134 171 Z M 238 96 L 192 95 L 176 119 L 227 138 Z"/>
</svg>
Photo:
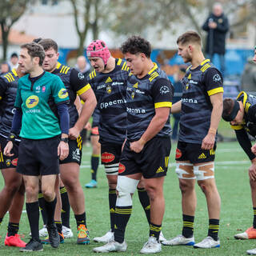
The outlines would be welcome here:
<svg viewBox="0 0 256 256">
<path fill-rule="evenodd" d="M 212 150 L 202 150 L 201 144 L 178 142 L 176 161 L 190 161 L 191 163 L 213 162 L 215 158 L 216 143 Z"/>
</svg>

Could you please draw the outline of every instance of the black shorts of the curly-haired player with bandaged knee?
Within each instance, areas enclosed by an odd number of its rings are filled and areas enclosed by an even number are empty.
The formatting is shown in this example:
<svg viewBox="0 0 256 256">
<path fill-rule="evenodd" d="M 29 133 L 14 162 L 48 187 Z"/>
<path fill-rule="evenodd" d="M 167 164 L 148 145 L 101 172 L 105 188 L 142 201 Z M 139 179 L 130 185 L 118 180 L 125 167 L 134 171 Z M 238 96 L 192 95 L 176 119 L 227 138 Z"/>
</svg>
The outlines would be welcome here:
<svg viewBox="0 0 256 256">
<path fill-rule="evenodd" d="M 140 153 L 130 150 L 130 142 L 122 150 L 118 175 L 142 173 L 144 178 L 166 176 L 170 155 L 170 138 L 154 137 Z"/>
</svg>

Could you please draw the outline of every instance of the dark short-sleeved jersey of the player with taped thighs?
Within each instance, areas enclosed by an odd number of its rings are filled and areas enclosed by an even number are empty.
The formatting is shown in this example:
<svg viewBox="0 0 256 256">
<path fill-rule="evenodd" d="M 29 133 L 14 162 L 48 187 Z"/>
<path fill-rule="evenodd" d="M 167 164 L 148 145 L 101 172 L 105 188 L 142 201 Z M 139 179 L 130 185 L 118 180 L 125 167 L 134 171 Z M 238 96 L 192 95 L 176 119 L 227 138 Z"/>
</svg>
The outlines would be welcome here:
<svg viewBox="0 0 256 256">
<path fill-rule="evenodd" d="M 189 66 L 182 78 L 182 111 L 178 140 L 201 144 L 210 128 L 213 106 L 210 96 L 223 92 L 222 74 L 209 59 Z"/>
</svg>

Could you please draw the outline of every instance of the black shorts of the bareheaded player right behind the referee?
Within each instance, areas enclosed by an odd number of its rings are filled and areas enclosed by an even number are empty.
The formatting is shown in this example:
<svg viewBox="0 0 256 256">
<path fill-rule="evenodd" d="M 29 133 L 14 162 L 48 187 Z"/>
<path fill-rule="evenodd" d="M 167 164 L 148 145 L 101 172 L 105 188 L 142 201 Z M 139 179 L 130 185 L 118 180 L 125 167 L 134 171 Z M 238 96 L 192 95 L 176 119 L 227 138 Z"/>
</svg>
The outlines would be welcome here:
<svg viewBox="0 0 256 256">
<path fill-rule="evenodd" d="M 77 162 L 78 165 L 81 165 L 82 161 L 82 137 L 79 135 L 75 140 L 69 140 L 70 152 L 67 158 L 60 160 L 59 163 L 68 163 L 68 162 Z"/>
</svg>

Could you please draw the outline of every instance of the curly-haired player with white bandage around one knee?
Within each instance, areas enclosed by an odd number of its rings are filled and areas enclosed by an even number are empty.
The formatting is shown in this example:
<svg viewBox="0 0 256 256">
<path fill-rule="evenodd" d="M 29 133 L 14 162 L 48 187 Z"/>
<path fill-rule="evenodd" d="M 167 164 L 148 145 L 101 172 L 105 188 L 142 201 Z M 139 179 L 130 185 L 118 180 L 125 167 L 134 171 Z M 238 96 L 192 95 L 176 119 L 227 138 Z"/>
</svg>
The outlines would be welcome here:
<svg viewBox="0 0 256 256">
<path fill-rule="evenodd" d="M 165 208 L 162 185 L 170 154 L 170 107 L 174 88 L 166 74 L 151 61 L 150 43 L 144 38 L 136 36 L 128 38 L 122 44 L 121 50 L 126 62 L 121 60 L 118 62 L 123 62 L 123 69 L 128 71 L 130 68 L 130 71 L 124 88 L 127 116 L 126 142 L 118 167 L 114 241 L 94 248 L 94 252 L 126 251 L 124 236 L 132 210 L 132 194 L 143 177 L 150 198 L 150 238 L 141 253 L 157 253 L 162 250 L 159 242 Z M 93 62 L 96 61 L 93 57 L 92 59 Z M 106 83 L 106 91 L 114 88 L 114 83 L 111 87 Z M 102 110 L 112 106 L 115 106 L 113 99 L 102 103 Z M 118 115 L 119 112 L 115 111 L 114 118 Z M 102 124 L 104 122 L 101 122 L 100 127 Z M 158 155 L 155 155 L 155 152 L 158 152 Z M 105 154 L 104 157 L 108 161 L 113 158 L 112 154 Z"/>
</svg>

